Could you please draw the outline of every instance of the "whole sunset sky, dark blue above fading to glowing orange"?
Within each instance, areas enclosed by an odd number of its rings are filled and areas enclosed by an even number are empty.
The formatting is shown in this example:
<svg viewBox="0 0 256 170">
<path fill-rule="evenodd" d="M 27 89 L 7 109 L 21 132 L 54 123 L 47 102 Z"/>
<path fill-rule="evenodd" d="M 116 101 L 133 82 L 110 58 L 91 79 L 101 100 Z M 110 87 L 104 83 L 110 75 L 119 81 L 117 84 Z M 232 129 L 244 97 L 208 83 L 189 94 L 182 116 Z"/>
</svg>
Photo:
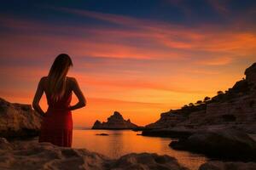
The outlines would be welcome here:
<svg viewBox="0 0 256 170">
<path fill-rule="evenodd" d="M 146 125 L 244 77 L 256 61 L 256 1 L 1 1 L 1 98 L 31 104 L 61 53 L 87 99 L 75 126 L 113 111 Z"/>
</svg>

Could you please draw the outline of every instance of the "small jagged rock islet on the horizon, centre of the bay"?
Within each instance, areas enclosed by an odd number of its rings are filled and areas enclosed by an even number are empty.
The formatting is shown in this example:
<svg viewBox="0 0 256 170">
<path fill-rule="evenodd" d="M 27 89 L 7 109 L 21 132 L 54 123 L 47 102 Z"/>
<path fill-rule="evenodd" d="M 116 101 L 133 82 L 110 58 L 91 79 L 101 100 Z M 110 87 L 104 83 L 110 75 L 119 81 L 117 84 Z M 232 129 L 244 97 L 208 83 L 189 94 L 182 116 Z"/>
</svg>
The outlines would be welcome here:
<svg viewBox="0 0 256 170">
<path fill-rule="evenodd" d="M 133 129 L 136 127 L 138 126 L 132 123 L 130 119 L 125 121 L 118 111 L 114 111 L 113 115 L 108 117 L 108 122 L 100 122 L 96 120 L 92 129 Z"/>
</svg>

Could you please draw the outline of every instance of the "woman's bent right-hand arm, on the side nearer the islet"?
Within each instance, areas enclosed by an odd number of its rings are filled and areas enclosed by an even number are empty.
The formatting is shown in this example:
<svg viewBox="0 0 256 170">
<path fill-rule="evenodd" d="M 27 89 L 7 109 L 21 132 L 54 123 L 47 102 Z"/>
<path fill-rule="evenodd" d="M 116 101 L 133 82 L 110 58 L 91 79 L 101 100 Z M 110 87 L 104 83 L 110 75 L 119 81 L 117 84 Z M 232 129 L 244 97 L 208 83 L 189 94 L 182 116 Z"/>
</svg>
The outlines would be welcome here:
<svg viewBox="0 0 256 170">
<path fill-rule="evenodd" d="M 73 78 L 73 92 L 79 99 L 79 102 L 76 105 L 72 105 L 68 108 L 69 111 L 73 111 L 79 108 L 82 108 L 86 105 L 86 99 L 84 98 L 84 94 L 82 93 L 81 89 L 79 88 L 79 83 L 75 78 Z"/>
</svg>

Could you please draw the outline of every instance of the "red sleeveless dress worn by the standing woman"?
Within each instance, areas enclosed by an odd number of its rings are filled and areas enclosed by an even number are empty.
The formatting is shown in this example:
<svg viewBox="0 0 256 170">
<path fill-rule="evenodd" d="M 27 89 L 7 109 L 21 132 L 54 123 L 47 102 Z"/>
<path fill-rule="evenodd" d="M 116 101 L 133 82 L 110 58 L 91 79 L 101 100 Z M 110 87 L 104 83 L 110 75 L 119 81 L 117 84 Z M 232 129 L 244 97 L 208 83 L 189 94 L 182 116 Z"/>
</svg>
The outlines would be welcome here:
<svg viewBox="0 0 256 170">
<path fill-rule="evenodd" d="M 72 93 L 63 96 L 57 102 L 48 100 L 48 110 L 45 113 L 39 134 L 39 142 L 49 142 L 58 146 L 71 147 L 73 138 L 72 112 L 70 106 Z"/>
</svg>

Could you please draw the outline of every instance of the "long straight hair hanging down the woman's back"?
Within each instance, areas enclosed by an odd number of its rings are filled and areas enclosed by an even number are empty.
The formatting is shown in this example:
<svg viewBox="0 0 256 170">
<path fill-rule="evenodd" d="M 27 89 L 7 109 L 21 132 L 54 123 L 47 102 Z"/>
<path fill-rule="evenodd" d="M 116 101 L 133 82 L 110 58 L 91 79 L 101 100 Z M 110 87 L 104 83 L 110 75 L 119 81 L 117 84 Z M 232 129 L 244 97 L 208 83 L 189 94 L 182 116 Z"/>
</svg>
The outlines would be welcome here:
<svg viewBox="0 0 256 170">
<path fill-rule="evenodd" d="M 73 66 L 72 59 L 67 54 L 59 54 L 50 67 L 48 74 L 49 94 L 53 101 L 58 101 L 65 94 L 66 76 L 70 66 Z"/>
</svg>

